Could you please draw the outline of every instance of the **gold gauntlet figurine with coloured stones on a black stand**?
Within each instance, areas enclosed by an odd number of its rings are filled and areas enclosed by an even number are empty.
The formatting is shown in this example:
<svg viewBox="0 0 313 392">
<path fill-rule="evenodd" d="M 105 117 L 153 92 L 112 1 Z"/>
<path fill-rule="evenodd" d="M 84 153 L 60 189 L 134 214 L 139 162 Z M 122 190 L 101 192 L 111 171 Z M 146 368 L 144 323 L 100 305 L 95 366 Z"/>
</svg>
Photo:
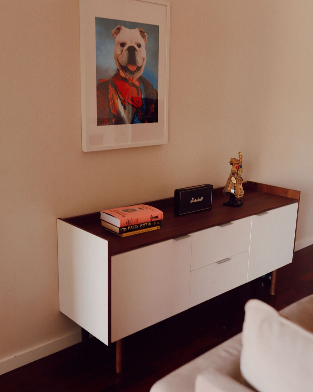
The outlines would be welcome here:
<svg viewBox="0 0 313 392">
<path fill-rule="evenodd" d="M 243 205 L 242 201 L 236 200 L 236 198 L 241 198 L 243 196 L 243 179 L 241 177 L 242 155 L 240 151 L 238 152 L 238 155 L 239 159 L 230 158 L 229 163 L 232 165 L 232 169 L 224 188 L 224 194 L 230 194 L 229 200 L 224 203 L 224 205 L 230 205 L 232 207 L 240 207 Z"/>
</svg>

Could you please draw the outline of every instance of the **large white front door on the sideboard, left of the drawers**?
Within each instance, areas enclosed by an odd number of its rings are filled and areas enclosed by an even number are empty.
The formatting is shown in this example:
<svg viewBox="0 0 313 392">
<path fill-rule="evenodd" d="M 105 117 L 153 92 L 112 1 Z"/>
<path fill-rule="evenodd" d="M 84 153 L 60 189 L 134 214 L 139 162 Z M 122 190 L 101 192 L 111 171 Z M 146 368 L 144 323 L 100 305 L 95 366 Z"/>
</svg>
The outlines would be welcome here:
<svg viewBox="0 0 313 392">
<path fill-rule="evenodd" d="M 111 341 L 188 309 L 191 236 L 113 256 Z"/>
</svg>

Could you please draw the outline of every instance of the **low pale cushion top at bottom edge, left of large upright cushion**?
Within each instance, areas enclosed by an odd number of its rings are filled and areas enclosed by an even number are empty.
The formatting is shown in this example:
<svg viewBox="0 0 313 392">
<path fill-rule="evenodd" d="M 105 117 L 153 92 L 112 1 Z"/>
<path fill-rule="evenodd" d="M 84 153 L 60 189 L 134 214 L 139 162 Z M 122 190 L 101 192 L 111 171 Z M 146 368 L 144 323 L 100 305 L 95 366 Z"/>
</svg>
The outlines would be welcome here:
<svg viewBox="0 0 313 392">
<path fill-rule="evenodd" d="M 196 377 L 194 392 L 251 392 L 239 381 L 211 368 Z"/>
</svg>

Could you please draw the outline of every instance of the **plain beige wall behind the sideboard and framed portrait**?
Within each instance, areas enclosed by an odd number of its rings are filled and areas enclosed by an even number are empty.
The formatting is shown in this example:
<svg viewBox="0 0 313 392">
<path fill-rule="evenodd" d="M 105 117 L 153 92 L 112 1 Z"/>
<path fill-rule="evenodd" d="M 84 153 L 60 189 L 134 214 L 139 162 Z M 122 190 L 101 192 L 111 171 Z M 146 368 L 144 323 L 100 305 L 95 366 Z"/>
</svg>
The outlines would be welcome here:
<svg viewBox="0 0 313 392">
<path fill-rule="evenodd" d="M 313 242 L 313 2 L 171 0 L 167 145 L 81 150 L 79 1 L 0 0 L 0 361 L 77 331 L 56 218 L 243 178 L 301 191 Z M 192 5 L 191 5 L 192 4 Z"/>
</svg>

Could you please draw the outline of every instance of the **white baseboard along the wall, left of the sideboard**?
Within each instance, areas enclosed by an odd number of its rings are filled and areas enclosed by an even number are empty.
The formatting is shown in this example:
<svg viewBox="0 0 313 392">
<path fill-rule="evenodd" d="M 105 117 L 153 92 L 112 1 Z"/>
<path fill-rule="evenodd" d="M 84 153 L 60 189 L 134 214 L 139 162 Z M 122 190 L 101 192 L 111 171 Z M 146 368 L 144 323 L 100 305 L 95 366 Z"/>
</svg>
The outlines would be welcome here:
<svg viewBox="0 0 313 392">
<path fill-rule="evenodd" d="M 0 361 L 0 375 L 10 372 L 11 370 L 14 370 L 23 365 L 27 365 L 27 363 L 31 363 L 37 359 L 54 354 L 57 351 L 63 350 L 64 348 L 70 347 L 79 342 L 81 342 L 80 331 L 68 336 L 63 336 L 63 338 L 50 341 L 49 343 L 31 348 L 30 350 L 20 352 L 13 357 L 2 359 Z"/>
</svg>

